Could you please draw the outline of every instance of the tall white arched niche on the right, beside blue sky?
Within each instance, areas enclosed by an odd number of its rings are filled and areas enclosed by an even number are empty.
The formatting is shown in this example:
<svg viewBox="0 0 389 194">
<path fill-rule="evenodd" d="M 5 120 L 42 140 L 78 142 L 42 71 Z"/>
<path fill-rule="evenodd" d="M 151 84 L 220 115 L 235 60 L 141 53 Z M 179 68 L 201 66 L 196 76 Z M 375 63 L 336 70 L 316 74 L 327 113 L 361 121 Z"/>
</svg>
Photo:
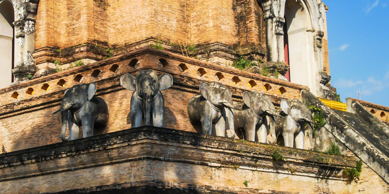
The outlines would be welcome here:
<svg viewBox="0 0 389 194">
<path fill-rule="evenodd" d="M 316 91 L 314 30 L 304 0 L 286 0 L 284 4 L 284 56 L 290 68 L 289 81 Z"/>
</svg>

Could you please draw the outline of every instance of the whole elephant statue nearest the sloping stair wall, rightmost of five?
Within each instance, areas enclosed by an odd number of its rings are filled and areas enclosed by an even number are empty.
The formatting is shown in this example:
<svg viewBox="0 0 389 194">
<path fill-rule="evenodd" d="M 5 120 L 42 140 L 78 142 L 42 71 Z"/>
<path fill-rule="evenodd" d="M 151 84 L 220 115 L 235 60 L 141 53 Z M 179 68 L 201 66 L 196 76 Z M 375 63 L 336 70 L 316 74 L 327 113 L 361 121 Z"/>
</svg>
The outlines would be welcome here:
<svg viewBox="0 0 389 194">
<path fill-rule="evenodd" d="M 284 117 L 276 119 L 276 134 L 283 136 L 284 145 L 304 149 L 305 124 L 308 127 L 310 143 L 313 145 L 312 124 L 316 122 L 313 121 L 307 105 L 298 99 L 282 100 L 281 110 L 280 114 Z"/>
</svg>

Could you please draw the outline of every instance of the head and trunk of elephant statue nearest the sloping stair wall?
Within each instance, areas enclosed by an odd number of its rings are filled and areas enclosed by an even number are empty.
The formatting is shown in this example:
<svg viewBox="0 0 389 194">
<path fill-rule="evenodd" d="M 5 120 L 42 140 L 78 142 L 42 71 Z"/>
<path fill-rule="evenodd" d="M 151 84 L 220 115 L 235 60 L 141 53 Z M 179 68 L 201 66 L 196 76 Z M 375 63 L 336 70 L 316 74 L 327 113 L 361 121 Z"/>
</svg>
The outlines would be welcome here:
<svg viewBox="0 0 389 194">
<path fill-rule="evenodd" d="M 298 99 L 289 99 L 281 101 L 281 109 L 283 114 L 290 116 L 293 121 L 301 126 L 308 124 L 308 135 L 311 145 L 313 145 L 313 126 L 312 124 L 317 124 L 313 121 L 312 113 L 309 111 L 307 105 L 302 103 Z"/>
</svg>

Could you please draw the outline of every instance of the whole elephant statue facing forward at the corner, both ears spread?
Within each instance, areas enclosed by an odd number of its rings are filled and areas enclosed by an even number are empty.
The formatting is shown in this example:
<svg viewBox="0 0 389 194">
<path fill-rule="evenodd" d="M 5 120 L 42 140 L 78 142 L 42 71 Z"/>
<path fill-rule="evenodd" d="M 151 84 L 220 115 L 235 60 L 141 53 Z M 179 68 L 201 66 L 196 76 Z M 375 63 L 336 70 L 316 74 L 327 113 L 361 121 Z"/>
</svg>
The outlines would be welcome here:
<svg viewBox="0 0 389 194">
<path fill-rule="evenodd" d="M 130 105 L 131 128 L 140 127 L 143 116 L 145 125 L 150 125 L 152 117 L 154 126 L 163 127 L 165 104 L 160 91 L 173 85 L 173 77 L 166 73 L 158 77 L 154 70 L 142 69 L 135 78 L 131 74 L 124 74 L 120 78 L 120 84 L 134 91 Z"/>
</svg>

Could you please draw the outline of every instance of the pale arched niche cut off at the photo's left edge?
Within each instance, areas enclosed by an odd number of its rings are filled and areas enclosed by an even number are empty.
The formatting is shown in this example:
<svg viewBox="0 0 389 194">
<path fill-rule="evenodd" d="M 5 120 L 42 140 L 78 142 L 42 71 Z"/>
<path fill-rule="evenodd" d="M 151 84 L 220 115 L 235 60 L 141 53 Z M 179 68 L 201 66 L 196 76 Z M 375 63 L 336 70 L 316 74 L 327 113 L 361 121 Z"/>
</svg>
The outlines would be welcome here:
<svg viewBox="0 0 389 194">
<path fill-rule="evenodd" d="M 13 82 L 14 68 L 14 6 L 8 0 L 0 0 L 0 88 Z"/>
</svg>

